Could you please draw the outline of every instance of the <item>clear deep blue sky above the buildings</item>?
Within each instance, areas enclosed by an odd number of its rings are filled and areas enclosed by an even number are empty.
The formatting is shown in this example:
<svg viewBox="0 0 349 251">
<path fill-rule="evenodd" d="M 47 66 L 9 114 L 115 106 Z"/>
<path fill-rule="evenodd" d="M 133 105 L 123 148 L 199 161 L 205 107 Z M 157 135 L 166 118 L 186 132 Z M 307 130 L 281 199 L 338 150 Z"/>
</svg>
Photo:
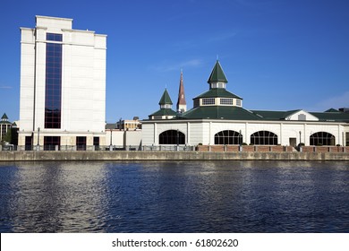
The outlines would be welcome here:
<svg viewBox="0 0 349 251">
<path fill-rule="evenodd" d="M 19 119 L 20 27 L 72 18 L 107 35 L 106 121 L 148 118 L 165 88 L 188 108 L 209 89 L 217 56 L 243 108 L 349 107 L 349 1 L 176 0 L 0 3 L 0 113 Z"/>
</svg>

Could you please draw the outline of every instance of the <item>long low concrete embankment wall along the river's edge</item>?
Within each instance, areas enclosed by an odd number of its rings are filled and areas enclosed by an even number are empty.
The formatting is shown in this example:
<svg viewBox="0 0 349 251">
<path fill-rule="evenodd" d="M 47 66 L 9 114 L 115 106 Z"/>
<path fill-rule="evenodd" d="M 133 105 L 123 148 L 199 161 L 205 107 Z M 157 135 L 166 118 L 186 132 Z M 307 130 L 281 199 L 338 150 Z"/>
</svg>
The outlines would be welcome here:
<svg viewBox="0 0 349 251">
<path fill-rule="evenodd" d="M 0 161 L 40 160 L 343 160 L 347 152 L 0 151 Z"/>
</svg>

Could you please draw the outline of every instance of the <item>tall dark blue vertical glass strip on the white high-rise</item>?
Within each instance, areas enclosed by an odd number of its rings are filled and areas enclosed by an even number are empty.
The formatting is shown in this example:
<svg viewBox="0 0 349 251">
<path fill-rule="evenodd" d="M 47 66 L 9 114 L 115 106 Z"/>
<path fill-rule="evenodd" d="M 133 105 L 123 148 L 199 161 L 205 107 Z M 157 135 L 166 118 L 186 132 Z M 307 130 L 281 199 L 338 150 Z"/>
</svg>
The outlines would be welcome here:
<svg viewBox="0 0 349 251">
<path fill-rule="evenodd" d="M 62 34 L 47 33 L 47 40 L 62 41 Z M 61 128 L 62 45 L 46 46 L 45 128 Z"/>
</svg>

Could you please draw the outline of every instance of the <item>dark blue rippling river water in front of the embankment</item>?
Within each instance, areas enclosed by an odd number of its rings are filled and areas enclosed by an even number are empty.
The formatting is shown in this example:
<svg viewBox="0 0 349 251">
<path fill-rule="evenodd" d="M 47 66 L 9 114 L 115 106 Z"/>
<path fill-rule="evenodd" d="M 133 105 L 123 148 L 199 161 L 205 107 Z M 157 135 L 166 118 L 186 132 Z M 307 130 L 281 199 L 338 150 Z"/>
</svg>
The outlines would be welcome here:
<svg viewBox="0 0 349 251">
<path fill-rule="evenodd" d="M 2 232 L 348 232 L 346 162 L 0 164 Z"/>
</svg>

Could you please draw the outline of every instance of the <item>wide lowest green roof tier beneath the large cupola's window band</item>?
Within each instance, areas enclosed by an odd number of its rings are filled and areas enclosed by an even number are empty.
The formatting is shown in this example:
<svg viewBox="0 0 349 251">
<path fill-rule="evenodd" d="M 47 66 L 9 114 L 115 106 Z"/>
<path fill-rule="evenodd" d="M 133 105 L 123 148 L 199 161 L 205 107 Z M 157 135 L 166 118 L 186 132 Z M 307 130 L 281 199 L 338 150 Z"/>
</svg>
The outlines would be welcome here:
<svg viewBox="0 0 349 251">
<path fill-rule="evenodd" d="M 229 120 L 259 120 L 260 117 L 239 107 L 208 106 L 192 108 L 179 118 L 210 118 Z"/>
</svg>

